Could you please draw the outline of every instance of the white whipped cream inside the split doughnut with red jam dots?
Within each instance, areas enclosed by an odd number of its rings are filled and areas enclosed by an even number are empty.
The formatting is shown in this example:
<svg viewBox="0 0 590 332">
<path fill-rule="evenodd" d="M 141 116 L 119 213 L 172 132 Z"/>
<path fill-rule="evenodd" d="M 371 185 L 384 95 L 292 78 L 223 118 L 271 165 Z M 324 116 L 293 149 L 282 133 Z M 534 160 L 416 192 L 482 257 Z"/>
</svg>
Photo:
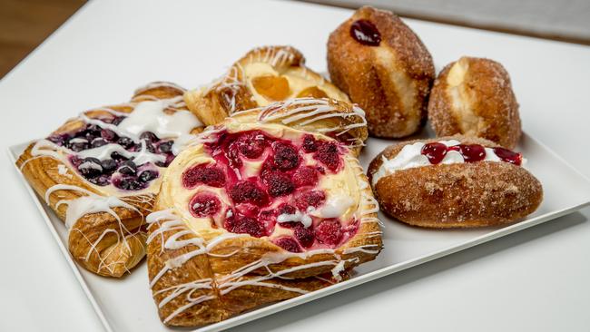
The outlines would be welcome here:
<svg viewBox="0 0 590 332">
<path fill-rule="evenodd" d="M 443 143 L 447 146 L 455 146 L 460 144 L 460 142 L 456 140 L 440 141 L 439 143 Z M 379 170 L 373 174 L 373 186 L 377 185 L 381 178 L 393 174 L 396 171 L 432 165 L 430 161 L 428 161 L 427 156 L 422 154 L 422 148 L 424 148 L 424 145 L 425 143 L 423 142 L 407 144 L 401 149 L 401 151 L 398 152 L 398 154 L 394 158 L 389 160 L 385 156 L 381 156 L 383 162 L 381 163 Z M 486 158 L 484 159 L 484 161 L 501 161 L 493 149 L 485 148 L 485 150 Z M 447 151 L 445 158 L 442 161 L 440 161 L 441 164 L 462 162 L 466 161 L 463 158 L 463 155 L 461 155 L 461 153 L 459 153 L 458 151 Z M 523 158 L 522 164 L 524 165 L 525 162 L 526 160 Z"/>
</svg>

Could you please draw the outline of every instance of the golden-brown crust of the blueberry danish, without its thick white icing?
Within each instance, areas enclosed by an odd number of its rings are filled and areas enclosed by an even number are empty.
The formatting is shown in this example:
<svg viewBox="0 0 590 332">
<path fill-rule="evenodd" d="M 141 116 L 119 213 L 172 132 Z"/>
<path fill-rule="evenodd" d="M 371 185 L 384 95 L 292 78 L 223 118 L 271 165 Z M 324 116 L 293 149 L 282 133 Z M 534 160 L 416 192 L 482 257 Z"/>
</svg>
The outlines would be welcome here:
<svg viewBox="0 0 590 332">
<path fill-rule="evenodd" d="M 133 112 L 134 104 L 159 99 L 181 97 L 184 90 L 172 83 L 151 83 L 138 90 L 131 103 L 97 108 L 84 114 L 99 118 L 111 112 Z M 180 107 L 179 109 L 182 109 Z M 186 108 L 183 108 L 186 110 Z M 169 109 L 166 112 L 176 112 Z M 52 135 L 75 132 L 85 122 L 74 118 L 65 122 Z M 193 133 L 201 132 L 195 128 Z M 106 201 L 109 194 L 86 181 L 69 162 L 62 158 L 34 152 L 36 142 L 31 143 L 16 161 L 25 179 L 35 192 L 44 198 L 55 214 L 64 222 L 68 219 L 68 205 L 86 197 Z M 41 147 L 39 149 L 44 149 Z M 110 206 L 109 211 L 84 213 L 72 220 L 68 235 L 68 249 L 84 269 L 105 277 L 122 277 L 133 269 L 145 255 L 146 233 L 144 217 L 152 212 L 154 190 L 143 190 L 138 195 L 119 197 L 124 206 Z M 108 204 L 107 204 L 108 205 Z M 92 209 L 91 209 L 92 210 Z M 75 212 L 75 211 L 74 211 Z"/>
</svg>

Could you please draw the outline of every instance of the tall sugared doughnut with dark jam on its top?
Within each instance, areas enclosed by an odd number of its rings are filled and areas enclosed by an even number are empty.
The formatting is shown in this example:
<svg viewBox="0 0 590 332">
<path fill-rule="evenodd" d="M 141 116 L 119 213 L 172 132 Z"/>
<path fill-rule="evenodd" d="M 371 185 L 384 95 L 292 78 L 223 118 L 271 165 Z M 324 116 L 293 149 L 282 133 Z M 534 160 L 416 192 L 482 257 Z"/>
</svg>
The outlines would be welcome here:
<svg viewBox="0 0 590 332">
<path fill-rule="evenodd" d="M 328 69 L 332 82 L 367 112 L 371 135 L 405 137 L 424 124 L 434 64 L 393 13 L 364 6 L 340 24 L 329 35 Z"/>
</svg>

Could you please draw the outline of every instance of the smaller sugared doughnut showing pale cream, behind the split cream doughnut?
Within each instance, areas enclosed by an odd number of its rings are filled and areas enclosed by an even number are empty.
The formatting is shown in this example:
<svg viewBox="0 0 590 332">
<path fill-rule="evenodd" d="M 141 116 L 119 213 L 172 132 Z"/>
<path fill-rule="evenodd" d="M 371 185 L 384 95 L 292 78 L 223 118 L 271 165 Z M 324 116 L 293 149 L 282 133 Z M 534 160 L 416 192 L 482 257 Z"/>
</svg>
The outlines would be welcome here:
<svg viewBox="0 0 590 332">
<path fill-rule="evenodd" d="M 438 136 L 464 134 L 514 149 L 520 139 L 518 103 L 502 64 L 464 56 L 435 81 L 428 120 Z"/>
</svg>

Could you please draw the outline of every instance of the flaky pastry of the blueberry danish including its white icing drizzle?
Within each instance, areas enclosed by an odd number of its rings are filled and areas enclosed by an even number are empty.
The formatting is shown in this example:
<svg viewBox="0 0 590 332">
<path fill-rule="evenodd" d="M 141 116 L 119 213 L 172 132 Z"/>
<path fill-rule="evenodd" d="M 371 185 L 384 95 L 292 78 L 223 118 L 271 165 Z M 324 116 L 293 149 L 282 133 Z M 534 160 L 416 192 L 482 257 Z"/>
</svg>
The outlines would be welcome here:
<svg viewBox="0 0 590 332">
<path fill-rule="evenodd" d="M 142 102 L 164 101 L 169 103 L 164 112 L 191 114 L 182 102 L 183 93 L 184 89 L 172 83 L 145 85 L 135 92 L 130 103 L 96 108 L 65 122 L 48 139 L 31 143 L 16 161 L 36 193 L 64 220 L 69 230 L 68 249 L 84 269 L 102 276 L 122 277 L 143 259 L 146 246 L 144 217 L 152 211 L 161 179 L 152 180 L 146 188 L 134 191 L 88 181 L 77 168 L 82 167 L 82 161 L 74 160 L 81 160 L 79 153 L 88 151 L 89 147 L 82 150 L 74 145 L 91 142 L 84 136 L 74 138 L 74 133 L 90 131 L 88 122 L 113 120 L 113 116 L 132 113 Z M 100 132 L 101 129 L 94 128 L 93 131 Z M 202 127 L 192 130 L 194 134 L 198 132 L 202 132 Z M 103 138 L 99 136 L 95 140 Z M 89 165 L 85 171 L 100 166 Z M 162 167 L 158 169 L 163 171 Z"/>
</svg>

